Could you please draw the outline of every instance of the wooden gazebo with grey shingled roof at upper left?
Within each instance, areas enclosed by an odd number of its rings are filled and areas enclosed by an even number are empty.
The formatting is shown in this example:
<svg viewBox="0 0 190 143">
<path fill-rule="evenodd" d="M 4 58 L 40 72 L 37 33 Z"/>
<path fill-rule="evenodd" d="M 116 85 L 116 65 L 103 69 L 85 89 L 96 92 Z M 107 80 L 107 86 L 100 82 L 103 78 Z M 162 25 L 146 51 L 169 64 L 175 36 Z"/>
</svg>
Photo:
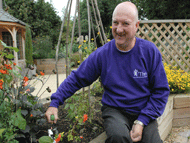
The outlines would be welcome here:
<svg viewBox="0 0 190 143">
<path fill-rule="evenodd" d="M 0 0 L 0 40 L 8 46 L 17 47 L 19 52 L 14 52 L 14 62 L 21 68 L 25 67 L 25 26 L 26 23 L 13 17 L 3 10 Z M 2 45 L 0 45 L 2 49 Z"/>
</svg>

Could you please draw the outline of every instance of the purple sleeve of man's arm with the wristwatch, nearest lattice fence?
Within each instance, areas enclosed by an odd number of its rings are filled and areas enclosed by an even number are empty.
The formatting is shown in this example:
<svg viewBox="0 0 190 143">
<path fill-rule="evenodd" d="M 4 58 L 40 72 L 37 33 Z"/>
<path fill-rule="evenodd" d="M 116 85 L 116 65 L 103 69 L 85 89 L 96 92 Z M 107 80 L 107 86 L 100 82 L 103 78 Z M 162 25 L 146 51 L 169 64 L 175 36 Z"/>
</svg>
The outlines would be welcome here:
<svg viewBox="0 0 190 143">
<path fill-rule="evenodd" d="M 138 120 L 145 125 L 147 125 L 150 120 L 154 120 L 163 114 L 170 93 L 162 63 L 162 56 L 157 48 L 154 54 L 152 54 L 152 57 L 149 75 L 151 95 L 147 105 L 141 110 L 138 117 Z"/>
</svg>

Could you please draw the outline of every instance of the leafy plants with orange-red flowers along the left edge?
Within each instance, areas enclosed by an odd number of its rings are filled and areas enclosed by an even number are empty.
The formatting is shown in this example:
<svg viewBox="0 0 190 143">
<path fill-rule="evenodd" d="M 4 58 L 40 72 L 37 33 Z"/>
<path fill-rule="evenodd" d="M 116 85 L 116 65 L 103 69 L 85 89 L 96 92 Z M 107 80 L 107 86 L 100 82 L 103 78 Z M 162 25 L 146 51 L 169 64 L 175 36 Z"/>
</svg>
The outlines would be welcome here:
<svg viewBox="0 0 190 143">
<path fill-rule="evenodd" d="M 0 42 L 4 47 L 0 54 L 0 142 L 16 143 L 21 138 L 26 143 L 35 141 L 38 125 L 46 121 L 42 118 L 44 114 L 39 103 L 40 96 L 32 95 L 35 88 L 29 84 L 27 73 L 22 77 L 16 70 L 21 68 L 9 60 L 14 56 L 7 53 L 6 49 L 15 52 L 18 49 Z M 44 83 L 41 79 L 43 75 L 41 72 L 40 77 L 33 78 Z"/>
</svg>

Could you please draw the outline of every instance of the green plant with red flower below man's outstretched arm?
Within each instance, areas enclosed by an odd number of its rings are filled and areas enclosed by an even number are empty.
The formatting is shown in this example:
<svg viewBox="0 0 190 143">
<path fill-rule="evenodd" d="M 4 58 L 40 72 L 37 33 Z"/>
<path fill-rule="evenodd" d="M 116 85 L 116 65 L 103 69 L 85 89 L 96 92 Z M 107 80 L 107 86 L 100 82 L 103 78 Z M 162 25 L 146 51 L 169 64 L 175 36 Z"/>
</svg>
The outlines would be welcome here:
<svg viewBox="0 0 190 143">
<path fill-rule="evenodd" d="M 66 100 L 66 105 L 64 107 L 68 112 L 66 118 L 71 120 L 73 123 L 70 125 L 70 130 L 67 133 L 68 141 L 80 141 L 80 135 L 77 134 L 76 129 L 85 128 L 86 121 L 92 123 L 95 113 L 99 112 L 99 110 L 95 109 L 95 104 L 99 103 L 101 105 L 101 103 L 93 97 L 95 91 L 100 91 L 98 90 L 100 89 L 100 84 L 97 83 L 94 84 L 93 90 L 91 90 L 90 93 L 90 95 L 92 95 L 91 99 L 93 100 L 89 101 L 87 92 L 82 93 L 80 91 L 76 92 Z"/>
</svg>

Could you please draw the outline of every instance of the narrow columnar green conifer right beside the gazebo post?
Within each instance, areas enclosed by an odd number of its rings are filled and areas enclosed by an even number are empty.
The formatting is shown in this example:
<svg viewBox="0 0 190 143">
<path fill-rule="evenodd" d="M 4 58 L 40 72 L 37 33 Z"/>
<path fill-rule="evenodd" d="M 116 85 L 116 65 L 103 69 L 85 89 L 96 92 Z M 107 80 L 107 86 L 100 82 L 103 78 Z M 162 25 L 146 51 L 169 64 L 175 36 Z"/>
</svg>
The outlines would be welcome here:
<svg viewBox="0 0 190 143">
<path fill-rule="evenodd" d="M 26 40 L 25 40 L 25 58 L 26 58 L 26 65 L 33 64 L 33 47 L 32 47 L 32 36 L 31 30 L 28 26 L 26 26 Z"/>
</svg>

